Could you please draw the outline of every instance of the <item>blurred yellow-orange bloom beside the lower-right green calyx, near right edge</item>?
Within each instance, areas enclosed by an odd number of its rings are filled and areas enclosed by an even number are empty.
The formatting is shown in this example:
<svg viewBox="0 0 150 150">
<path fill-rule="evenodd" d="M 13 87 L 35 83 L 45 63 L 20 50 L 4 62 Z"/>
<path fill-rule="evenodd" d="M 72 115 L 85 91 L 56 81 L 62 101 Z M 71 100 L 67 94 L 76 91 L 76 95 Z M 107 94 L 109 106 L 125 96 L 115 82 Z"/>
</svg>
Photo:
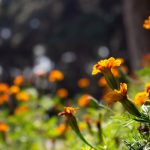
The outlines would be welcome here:
<svg viewBox="0 0 150 150">
<path fill-rule="evenodd" d="M 149 94 L 147 92 L 139 92 L 139 93 L 136 94 L 133 102 L 136 105 L 141 106 L 141 105 L 143 105 L 146 102 L 146 100 L 148 100 L 148 95 Z"/>
</svg>

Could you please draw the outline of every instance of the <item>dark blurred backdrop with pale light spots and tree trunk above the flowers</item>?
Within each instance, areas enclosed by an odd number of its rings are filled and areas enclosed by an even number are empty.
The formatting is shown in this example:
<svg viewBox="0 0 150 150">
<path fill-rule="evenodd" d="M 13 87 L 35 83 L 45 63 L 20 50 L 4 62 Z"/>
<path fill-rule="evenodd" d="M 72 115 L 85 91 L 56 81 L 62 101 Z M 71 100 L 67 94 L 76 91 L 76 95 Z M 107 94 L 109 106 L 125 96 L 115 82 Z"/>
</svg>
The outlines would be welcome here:
<svg viewBox="0 0 150 150">
<path fill-rule="evenodd" d="M 100 59 L 139 69 L 150 52 L 149 8 L 149 0 L 0 0 L 1 80 L 59 69 L 73 95 Z"/>
</svg>

